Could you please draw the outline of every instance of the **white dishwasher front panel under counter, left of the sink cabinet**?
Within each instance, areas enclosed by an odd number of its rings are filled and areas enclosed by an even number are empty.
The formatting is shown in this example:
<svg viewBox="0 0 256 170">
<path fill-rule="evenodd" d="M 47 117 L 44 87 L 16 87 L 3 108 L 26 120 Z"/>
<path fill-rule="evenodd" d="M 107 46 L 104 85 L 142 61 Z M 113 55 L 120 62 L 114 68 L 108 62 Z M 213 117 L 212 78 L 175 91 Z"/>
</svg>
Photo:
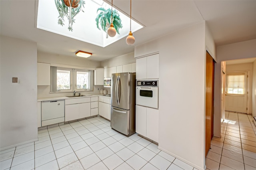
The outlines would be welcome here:
<svg viewBox="0 0 256 170">
<path fill-rule="evenodd" d="M 64 100 L 42 101 L 42 121 L 65 116 Z"/>
</svg>

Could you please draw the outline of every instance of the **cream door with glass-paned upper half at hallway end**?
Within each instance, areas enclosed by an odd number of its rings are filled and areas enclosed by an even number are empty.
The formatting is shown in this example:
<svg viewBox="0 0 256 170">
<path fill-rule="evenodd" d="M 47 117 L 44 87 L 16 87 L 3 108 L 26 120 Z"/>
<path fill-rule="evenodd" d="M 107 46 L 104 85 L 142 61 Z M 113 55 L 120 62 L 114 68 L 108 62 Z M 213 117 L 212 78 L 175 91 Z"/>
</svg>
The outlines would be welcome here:
<svg viewBox="0 0 256 170">
<path fill-rule="evenodd" d="M 247 72 L 226 74 L 226 111 L 247 113 L 247 75 Z"/>
</svg>

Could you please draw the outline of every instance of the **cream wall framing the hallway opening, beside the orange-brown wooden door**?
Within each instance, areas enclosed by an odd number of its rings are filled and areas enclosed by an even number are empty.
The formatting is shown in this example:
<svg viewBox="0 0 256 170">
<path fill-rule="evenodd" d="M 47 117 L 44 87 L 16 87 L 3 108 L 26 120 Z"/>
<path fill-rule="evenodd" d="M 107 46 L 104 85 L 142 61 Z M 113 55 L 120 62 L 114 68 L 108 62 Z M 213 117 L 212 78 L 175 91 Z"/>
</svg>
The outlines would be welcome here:
<svg viewBox="0 0 256 170">
<path fill-rule="evenodd" d="M 244 59 L 256 57 L 256 39 L 221 45 L 216 48 L 217 62 L 214 70 L 214 136 L 220 137 L 220 130 L 215 127 L 219 126 L 221 117 L 221 61 L 232 59 Z"/>
</svg>

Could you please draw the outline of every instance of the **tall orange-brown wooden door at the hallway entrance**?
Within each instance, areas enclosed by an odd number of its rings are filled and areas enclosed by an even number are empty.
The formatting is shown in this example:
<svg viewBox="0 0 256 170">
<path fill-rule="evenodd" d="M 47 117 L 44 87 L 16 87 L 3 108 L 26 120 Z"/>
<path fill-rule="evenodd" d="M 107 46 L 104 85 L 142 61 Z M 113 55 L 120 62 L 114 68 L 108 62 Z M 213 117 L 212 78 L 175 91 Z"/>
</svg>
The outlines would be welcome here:
<svg viewBox="0 0 256 170">
<path fill-rule="evenodd" d="M 214 60 L 206 51 L 205 156 L 213 136 Z"/>
</svg>

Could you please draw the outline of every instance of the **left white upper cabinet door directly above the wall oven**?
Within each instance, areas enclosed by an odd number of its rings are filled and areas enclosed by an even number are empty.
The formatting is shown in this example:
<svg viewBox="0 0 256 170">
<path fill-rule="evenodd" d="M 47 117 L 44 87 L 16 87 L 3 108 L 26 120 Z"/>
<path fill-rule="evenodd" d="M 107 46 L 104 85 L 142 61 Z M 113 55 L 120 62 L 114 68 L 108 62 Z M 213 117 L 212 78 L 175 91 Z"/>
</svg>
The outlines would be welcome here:
<svg viewBox="0 0 256 170">
<path fill-rule="evenodd" d="M 136 79 L 147 78 L 147 57 L 136 59 Z"/>
</svg>

